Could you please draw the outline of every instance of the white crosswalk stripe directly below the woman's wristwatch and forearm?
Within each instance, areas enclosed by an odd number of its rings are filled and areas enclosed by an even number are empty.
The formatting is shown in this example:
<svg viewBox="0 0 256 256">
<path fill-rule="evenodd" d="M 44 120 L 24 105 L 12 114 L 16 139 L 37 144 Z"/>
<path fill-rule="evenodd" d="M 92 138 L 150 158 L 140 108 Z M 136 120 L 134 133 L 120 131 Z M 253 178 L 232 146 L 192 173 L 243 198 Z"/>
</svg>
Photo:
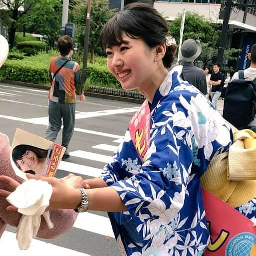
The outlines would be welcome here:
<svg viewBox="0 0 256 256">
<path fill-rule="evenodd" d="M 97 233 L 102 236 L 115 237 L 111 228 L 110 220 L 107 217 L 97 214 L 88 212 L 78 214 L 74 227 L 92 233 Z"/>
</svg>

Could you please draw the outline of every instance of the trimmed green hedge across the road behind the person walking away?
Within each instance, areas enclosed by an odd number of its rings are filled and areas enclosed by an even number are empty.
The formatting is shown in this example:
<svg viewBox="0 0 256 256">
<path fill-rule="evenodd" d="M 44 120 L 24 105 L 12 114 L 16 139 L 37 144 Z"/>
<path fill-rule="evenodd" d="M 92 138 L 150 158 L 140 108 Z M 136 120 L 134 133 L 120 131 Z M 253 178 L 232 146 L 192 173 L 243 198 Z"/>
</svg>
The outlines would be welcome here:
<svg viewBox="0 0 256 256">
<path fill-rule="evenodd" d="M 53 52 L 49 54 L 40 52 L 36 56 L 24 57 L 22 60 L 8 59 L 0 68 L 0 76 L 6 80 L 49 84 L 48 66 L 50 58 L 54 55 L 56 54 L 53 54 Z M 88 63 L 87 77 L 92 85 L 121 88 L 116 78 L 104 64 Z"/>
</svg>

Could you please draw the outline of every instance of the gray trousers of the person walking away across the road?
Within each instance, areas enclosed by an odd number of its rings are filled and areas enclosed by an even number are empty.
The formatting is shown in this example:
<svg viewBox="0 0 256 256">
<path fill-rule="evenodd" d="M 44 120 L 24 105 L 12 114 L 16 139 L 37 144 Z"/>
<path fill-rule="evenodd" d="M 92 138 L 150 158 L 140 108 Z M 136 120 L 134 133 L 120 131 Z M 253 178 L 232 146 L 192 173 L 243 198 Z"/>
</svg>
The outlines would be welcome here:
<svg viewBox="0 0 256 256">
<path fill-rule="evenodd" d="M 49 100 L 49 125 L 46 130 L 45 139 L 55 142 L 63 120 L 62 143 L 68 147 L 75 126 L 75 103 L 56 103 Z"/>
</svg>

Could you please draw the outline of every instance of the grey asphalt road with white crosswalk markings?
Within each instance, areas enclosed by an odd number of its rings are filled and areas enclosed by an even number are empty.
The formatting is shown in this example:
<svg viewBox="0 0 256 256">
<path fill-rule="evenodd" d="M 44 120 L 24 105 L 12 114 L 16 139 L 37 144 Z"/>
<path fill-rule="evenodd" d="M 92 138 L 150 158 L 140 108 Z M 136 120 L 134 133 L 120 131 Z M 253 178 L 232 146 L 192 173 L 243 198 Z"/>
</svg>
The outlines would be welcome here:
<svg viewBox="0 0 256 256">
<path fill-rule="evenodd" d="M 138 106 L 135 103 L 92 97 L 86 97 L 85 103 L 77 101 L 75 132 L 68 148 L 71 156 L 60 163 L 56 176 L 63 177 L 69 172 L 83 178 L 97 176 L 111 159 Z M 8 135 L 10 143 L 16 127 L 44 137 L 47 116 L 46 90 L 0 83 L 0 131 Z M 61 134 L 56 142 L 61 144 Z M 15 229 L 12 227 L 4 232 L 0 240 L 1 254 L 119 256 L 105 213 L 80 214 L 68 234 L 54 240 L 33 240 L 31 248 L 25 252 L 17 249 L 13 232 Z"/>
</svg>

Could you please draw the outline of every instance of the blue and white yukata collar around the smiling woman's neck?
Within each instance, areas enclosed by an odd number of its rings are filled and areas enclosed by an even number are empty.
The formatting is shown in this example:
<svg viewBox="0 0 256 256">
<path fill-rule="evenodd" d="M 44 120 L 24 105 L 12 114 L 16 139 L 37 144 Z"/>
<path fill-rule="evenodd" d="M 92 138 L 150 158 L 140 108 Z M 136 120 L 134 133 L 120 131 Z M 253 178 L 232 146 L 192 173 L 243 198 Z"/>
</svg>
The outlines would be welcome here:
<svg viewBox="0 0 256 256">
<path fill-rule="evenodd" d="M 158 102 L 161 100 L 162 97 L 166 96 L 172 89 L 173 80 L 177 80 L 179 82 L 182 82 L 182 78 L 180 77 L 182 73 L 182 65 L 174 66 L 165 77 L 164 81 L 161 83 L 159 88 L 156 90 L 156 93 L 154 95 L 150 110 L 152 111 L 158 104 Z"/>
</svg>

